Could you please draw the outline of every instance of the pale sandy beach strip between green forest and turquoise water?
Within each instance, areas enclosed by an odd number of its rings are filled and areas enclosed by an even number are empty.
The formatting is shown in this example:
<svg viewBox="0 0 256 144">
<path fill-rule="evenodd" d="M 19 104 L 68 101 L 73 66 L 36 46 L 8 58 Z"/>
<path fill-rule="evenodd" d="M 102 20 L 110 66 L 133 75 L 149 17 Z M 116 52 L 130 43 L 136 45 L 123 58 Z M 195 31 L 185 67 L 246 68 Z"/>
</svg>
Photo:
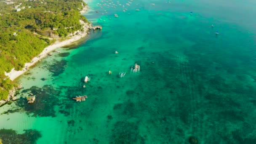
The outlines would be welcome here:
<svg viewBox="0 0 256 144">
<path fill-rule="evenodd" d="M 83 8 L 82 11 L 80 11 L 81 14 L 86 13 L 88 11 L 88 6 L 85 5 L 85 7 Z M 80 40 L 81 38 L 85 37 L 87 35 L 87 31 L 89 29 L 92 28 L 91 24 L 85 23 L 84 21 L 80 20 L 80 24 L 84 24 L 83 31 L 77 31 L 75 33 L 77 33 L 76 35 L 70 37 L 67 40 L 64 41 L 56 41 L 55 43 L 53 43 L 52 45 L 49 45 L 48 47 L 44 48 L 44 50 L 35 58 L 33 58 L 29 63 L 25 63 L 24 68 L 22 68 L 22 70 L 15 70 L 14 68 L 11 69 L 11 72 L 5 72 L 5 75 L 8 76 L 10 78 L 10 80 L 15 80 L 17 77 L 19 77 L 20 75 L 23 75 L 25 72 L 27 72 L 28 68 L 31 67 L 32 65 L 34 65 L 35 63 L 37 63 L 38 61 L 40 61 L 41 59 L 43 59 L 45 56 L 48 55 L 48 53 L 50 53 L 51 51 L 55 50 L 56 48 L 60 48 L 62 46 L 65 45 L 69 45 L 77 40 Z M 65 37 L 64 37 L 65 38 Z"/>
</svg>

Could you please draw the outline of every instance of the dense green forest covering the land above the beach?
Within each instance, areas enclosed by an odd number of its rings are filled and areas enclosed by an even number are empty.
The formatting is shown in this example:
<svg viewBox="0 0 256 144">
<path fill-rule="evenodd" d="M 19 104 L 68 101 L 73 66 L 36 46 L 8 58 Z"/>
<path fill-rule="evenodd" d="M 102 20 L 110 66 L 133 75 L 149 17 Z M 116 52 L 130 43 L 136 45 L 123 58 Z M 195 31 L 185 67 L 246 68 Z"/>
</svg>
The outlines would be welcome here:
<svg viewBox="0 0 256 144">
<path fill-rule="evenodd" d="M 83 0 L 0 0 L 0 100 L 15 86 L 5 72 L 21 70 L 54 40 L 81 30 Z M 69 28 L 72 27 L 72 28 Z"/>
</svg>

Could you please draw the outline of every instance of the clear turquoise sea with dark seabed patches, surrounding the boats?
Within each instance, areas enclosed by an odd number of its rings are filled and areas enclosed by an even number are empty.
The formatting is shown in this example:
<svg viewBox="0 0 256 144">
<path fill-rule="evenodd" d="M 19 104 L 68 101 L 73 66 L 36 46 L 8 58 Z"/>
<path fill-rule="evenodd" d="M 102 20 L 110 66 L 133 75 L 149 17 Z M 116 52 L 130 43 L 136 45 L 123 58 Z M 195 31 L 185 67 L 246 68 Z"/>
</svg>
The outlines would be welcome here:
<svg viewBox="0 0 256 144">
<path fill-rule="evenodd" d="M 256 144 L 255 0 L 86 2 L 103 29 L 16 80 L 3 144 Z"/>
</svg>

